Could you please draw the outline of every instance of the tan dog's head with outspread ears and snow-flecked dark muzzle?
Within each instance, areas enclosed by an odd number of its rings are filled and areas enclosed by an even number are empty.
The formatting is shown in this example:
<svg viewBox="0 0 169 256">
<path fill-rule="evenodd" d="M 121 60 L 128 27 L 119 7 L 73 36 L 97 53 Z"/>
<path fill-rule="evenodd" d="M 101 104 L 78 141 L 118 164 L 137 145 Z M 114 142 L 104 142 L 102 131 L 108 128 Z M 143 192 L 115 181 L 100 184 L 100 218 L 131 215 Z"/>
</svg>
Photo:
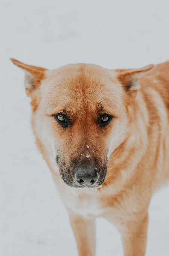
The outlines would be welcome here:
<svg viewBox="0 0 169 256">
<path fill-rule="evenodd" d="M 129 132 L 127 106 L 138 78 L 153 65 L 108 70 L 72 64 L 50 71 L 11 60 L 25 71 L 33 130 L 45 160 L 68 186 L 100 186 L 109 156 Z"/>
</svg>

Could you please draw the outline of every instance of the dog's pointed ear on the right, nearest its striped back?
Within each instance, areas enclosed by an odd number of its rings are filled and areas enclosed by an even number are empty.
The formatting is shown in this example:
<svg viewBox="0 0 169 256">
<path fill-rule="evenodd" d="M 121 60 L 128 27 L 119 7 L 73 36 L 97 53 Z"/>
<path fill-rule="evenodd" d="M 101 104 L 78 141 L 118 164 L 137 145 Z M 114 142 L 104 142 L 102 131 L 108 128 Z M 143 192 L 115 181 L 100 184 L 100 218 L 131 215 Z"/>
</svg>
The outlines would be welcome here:
<svg viewBox="0 0 169 256">
<path fill-rule="evenodd" d="M 144 75 L 145 72 L 153 69 L 154 64 L 143 67 L 142 69 L 116 69 L 118 73 L 117 78 L 120 81 L 120 84 L 123 85 L 127 93 L 136 92 L 140 88 L 139 78 Z"/>
</svg>

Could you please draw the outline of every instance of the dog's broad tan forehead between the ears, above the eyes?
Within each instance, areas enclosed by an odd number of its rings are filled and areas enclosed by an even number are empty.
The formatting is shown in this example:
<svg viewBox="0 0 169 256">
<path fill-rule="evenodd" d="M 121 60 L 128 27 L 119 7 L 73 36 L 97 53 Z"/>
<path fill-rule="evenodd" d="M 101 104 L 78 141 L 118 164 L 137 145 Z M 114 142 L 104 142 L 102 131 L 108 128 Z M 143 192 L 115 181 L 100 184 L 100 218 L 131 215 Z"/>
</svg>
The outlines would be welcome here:
<svg viewBox="0 0 169 256">
<path fill-rule="evenodd" d="M 42 98 L 51 108 L 117 106 L 122 94 L 115 71 L 93 64 L 70 64 L 47 71 Z"/>
</svg>

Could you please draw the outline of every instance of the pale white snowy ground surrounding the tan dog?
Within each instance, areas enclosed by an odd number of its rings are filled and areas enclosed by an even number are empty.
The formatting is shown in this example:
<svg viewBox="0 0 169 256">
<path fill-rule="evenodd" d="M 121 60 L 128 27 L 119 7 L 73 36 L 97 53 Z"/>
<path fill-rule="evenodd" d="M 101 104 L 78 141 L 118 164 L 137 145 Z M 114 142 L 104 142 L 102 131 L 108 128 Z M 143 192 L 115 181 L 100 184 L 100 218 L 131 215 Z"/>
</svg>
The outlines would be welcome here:
<svg viewBox="0 0 169 256">
<path fill-rule="evenodd" d="M 169 1 L 1 1 L 1 256 L 77 256 L 51 174 L 34 145 L 24 73 L 9 58 L 55 69 L 169 60 Z M 169 187 L 150 205 L 146 256 L 169 255 Z M 122 256 L 120 234 L 97 220 L 97 256 Z"/>
</svg>

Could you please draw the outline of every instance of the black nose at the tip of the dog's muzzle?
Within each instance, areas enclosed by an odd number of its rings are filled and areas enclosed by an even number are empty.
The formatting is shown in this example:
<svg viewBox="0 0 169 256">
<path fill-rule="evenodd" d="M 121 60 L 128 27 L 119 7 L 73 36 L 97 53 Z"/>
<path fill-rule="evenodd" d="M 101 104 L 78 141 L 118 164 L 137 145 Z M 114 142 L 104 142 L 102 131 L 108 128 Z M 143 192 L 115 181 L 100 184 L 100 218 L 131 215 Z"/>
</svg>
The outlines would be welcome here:
<svg viewBox="0 0 169 256">
<path fill-rule="evenodd" d="M 98 178 L 97 168 L 83 167 L 75 171 L 75 179 L 83 187 L 92 186 Z"/>
</svg>

